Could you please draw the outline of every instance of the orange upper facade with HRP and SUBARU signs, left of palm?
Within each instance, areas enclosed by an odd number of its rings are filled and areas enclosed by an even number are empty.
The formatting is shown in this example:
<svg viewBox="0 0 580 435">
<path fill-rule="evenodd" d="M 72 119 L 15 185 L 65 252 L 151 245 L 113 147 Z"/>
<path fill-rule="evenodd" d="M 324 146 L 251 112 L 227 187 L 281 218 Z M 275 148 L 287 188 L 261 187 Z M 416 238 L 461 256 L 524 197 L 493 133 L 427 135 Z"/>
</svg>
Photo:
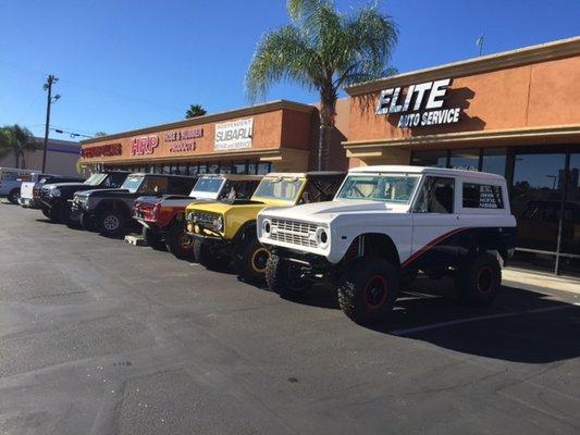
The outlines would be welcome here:
<svg viewBox="0 0 580 435">
<path fill-rule="evenodd" d="M 82 164 L 196 175 L 306 171 L 316 108 L 275 101 L 83 141 Z"/>
</svg>

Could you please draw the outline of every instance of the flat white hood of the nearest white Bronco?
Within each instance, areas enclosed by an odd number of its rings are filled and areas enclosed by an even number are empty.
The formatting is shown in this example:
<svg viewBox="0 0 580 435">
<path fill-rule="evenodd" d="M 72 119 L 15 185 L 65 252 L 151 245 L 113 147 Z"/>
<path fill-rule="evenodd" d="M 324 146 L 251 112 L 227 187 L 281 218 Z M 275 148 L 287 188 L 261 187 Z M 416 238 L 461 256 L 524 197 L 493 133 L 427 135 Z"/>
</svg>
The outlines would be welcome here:
<svg viewBox="0 0 580 435">
<path fill-rule="evenodd" d="M 369 212 L 407 212 L 409 206 L 392 204 L 379 201 L 335 199 L 333 201 L 312 202 L 289 209 L 277 208 L 264 210 L 261 214 L 274 217 L 288 217 L 312 221 L 332 221 L 338 214 L 369 213 Z"/>
</svg>

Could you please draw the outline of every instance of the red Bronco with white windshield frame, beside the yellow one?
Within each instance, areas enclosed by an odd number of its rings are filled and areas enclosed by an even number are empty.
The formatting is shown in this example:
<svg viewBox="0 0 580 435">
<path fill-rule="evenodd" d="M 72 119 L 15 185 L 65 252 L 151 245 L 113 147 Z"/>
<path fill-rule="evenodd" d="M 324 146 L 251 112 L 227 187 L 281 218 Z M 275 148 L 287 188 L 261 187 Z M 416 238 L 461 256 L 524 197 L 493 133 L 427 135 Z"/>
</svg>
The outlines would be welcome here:
<svg viewBox="0 0 580 435">
<path fill-rule="evenodd" d="M 249 199 L 260 179 L 260 175 L 206 174 L 188 196 L 137 198 L 134 217 L 143 225 L 147 245 L 153 249 L 166 248 L 175 257 L 187 259 L 193 257 L 193 239 L 185 228 L 187 204 Z"/>
</svg>

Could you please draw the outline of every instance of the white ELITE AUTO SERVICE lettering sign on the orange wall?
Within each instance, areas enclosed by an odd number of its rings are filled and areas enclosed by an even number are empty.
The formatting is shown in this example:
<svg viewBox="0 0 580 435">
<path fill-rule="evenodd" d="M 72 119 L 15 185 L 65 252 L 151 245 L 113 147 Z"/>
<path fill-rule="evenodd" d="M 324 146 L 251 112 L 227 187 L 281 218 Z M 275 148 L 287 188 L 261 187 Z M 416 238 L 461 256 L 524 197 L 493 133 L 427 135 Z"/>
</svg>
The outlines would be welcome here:
<svg viewBox="0 0 580 435">
<path fill-rule="evenodd" d="M 378 115 L 400 113 L 399 128 L 445 125 L 459 122 L 460 108 L 443 108 L 451 78 L 427 82 L 404 88 L 384 89 L 379 96 Z"/>
</svg>

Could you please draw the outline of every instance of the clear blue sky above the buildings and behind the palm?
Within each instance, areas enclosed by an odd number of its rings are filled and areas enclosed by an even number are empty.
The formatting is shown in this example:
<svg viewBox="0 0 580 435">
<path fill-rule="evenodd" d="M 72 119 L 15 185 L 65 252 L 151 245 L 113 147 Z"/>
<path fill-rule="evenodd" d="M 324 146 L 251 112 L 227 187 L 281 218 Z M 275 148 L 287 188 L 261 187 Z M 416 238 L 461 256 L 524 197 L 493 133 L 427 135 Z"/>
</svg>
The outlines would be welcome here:
<svg viewBox="0 0 580 435">
<path fill-rule="evenodd" d="M 347 12 L 362 4 L 338 0 Z M 398 23 L 400 72 L 580 34 L 580 0 L 380 0 Z M 285 0 L 2 0 L 0 125 L 44 134 L 48 73 L 60 82 L 53 126 L 92 135 L 248 104 L 244 75 L 260 36 L 287 22 Z M 292 84 L 267 100 L 314 102 Z M 66 135 L 51 134 L 66 139 Z"/>
</svg>

